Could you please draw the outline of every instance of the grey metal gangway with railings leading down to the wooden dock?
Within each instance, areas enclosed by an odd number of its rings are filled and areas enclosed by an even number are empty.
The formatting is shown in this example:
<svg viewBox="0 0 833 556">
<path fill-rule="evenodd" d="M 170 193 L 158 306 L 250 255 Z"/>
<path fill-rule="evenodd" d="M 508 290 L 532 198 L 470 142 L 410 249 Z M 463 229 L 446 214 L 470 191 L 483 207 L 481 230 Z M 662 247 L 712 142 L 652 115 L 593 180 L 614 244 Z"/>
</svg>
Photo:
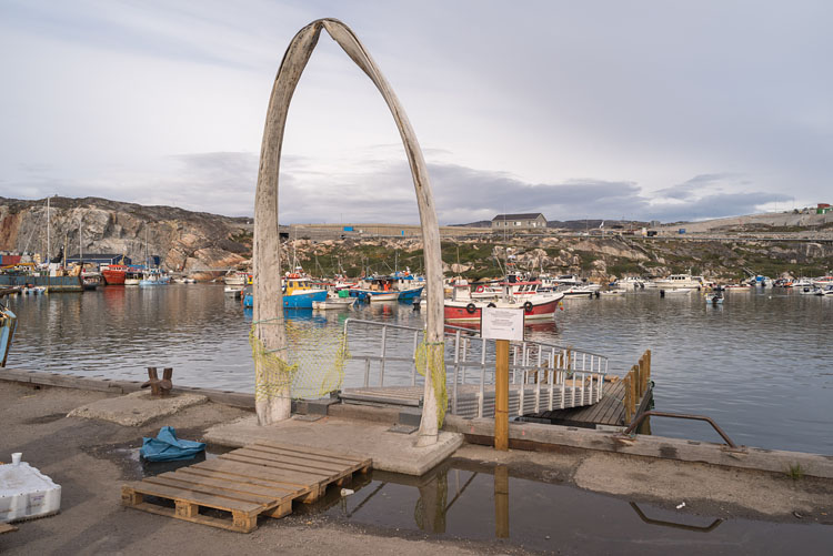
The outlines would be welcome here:
<svg viewBox="0 0 833 556">
<path fill-rule="evenodd" d="M 424 330 L 348 319 L 349 357 L 341 398 L 345 403 L 421 407 L 424 377 L 416 347 Z M 493 340 L 478 330 L 445 326 L 448 412 L 463 417 L 494 415 Z M 604 394 L 608 357 L 572 346 L 510 342 L 510 415 L 579 407 Z"/>
</svg>

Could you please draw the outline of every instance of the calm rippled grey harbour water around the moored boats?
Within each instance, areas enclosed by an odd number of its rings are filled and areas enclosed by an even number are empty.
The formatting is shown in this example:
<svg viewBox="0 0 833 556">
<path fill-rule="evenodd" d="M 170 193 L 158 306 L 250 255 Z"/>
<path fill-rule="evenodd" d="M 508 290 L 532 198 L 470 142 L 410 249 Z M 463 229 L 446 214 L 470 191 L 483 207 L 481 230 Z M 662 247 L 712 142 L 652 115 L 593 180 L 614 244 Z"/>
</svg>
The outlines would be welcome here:
<svg viewBox="0 0 833 556">
<path fill-rule="evenodd" d="M 221 285 L 110 286 L 18 295 L 9 304 L 19 316 L 9 367 L 141 381 L 148 366 L 173 367 L 174 385 L 254 390 L 251 312 Z M 395 302 L 288 316 L 334 334 L 348 317 L 424 324 Z M 700 293 L 661 299 L 646 290 L 565 300 L 553 322 L 528 327 L 526 336 L 606 355 L 620 375 L 651 350 L 658 410 L 707 415 L 737 444 L 833 454 L 833 299 L 769 289 L 729 292 L 711 306 Z M 361 377 L 348 371 L 345 385 L 358 385 Z M 393 372 L 385 385 L 410 380 Z M 655 418 L 651 428 L 720 442 L 704 423 Z"/>
</svg>

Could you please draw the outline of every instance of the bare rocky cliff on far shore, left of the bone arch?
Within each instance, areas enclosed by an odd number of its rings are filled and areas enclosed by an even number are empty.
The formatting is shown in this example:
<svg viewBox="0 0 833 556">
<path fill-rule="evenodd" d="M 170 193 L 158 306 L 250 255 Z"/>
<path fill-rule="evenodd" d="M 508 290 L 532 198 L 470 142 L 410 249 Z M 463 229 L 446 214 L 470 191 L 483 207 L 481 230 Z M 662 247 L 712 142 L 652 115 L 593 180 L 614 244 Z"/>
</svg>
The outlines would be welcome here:
<svg viewBox="0 0 833 556">
<path fill-rule="evenodd" d="M 147 252 L 171 271 L 235 267 L 251 256 L 251 224 L 171 206 L 143 206 L 98 198 L 50 201 L 51 252 L 121 253 L 134 262 Z M 46 200 L 0 198 L 0 251 L 46 253 Z"/>
</svg>

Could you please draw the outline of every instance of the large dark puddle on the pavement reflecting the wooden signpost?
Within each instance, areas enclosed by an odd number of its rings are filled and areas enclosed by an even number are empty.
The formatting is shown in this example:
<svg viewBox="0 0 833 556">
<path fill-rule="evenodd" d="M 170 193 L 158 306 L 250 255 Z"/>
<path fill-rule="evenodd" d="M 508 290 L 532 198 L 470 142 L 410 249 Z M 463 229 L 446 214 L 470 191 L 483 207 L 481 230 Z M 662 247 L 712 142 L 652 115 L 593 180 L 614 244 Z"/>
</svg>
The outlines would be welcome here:
<svg viewBox="0 0 833 556">
<path fill-rule="evenodd" d="M 504 466 L 475 472 L 444 465 L 422 477 L 373 472 L 342 497 L 330 488 L 295 514 L 430 536 L 498 540 L 532 550 L 603 554 L 824 554 L 833 526 L 723 519 L 512 477 Z"/>
</svg>

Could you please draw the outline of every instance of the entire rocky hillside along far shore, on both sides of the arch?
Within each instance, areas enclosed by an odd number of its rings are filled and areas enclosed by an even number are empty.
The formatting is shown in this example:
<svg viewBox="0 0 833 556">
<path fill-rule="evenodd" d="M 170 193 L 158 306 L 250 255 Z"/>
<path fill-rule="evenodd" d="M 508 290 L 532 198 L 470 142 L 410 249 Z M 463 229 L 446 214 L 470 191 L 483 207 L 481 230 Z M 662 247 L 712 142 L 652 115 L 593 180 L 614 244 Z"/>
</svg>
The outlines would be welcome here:
<svg viewBox="0 0 833 556">
<path fill-rule="evenodd" d="M 148 253 L 159 255 L 165 269 L 203 279 L 217 275 L 204 272 L 208 269 L 247 267 L 251 263 L 252 226 L 248 219 L 96 198 L 52 198 L 51 208 L 52 253 L 64 243 L 70 254 L 78 252 L 80 223 L 84 253 L 123 253 L 140 262 L 147 242 Z M 46 243 L 46 201 L 0 198 L 0 251 L 44 253 Z M 596 282 L 689 271 L 731 281 L 747 272 L 775 277 L 784 273 L 816 276 L 833 270 L 830 242 L 619 235 L 444 239 L 443 270 L 446 276 L 499 277 L 504 273 L 506 249 L 522 270 L 580 274 Z M 320 276 L 387 273 L 405 266 L 421 272 L 422 242 L 412 237 L 297 240 L 283 250 L 284 270 L 293 257 L 307 272 Z"/>
</svg>

